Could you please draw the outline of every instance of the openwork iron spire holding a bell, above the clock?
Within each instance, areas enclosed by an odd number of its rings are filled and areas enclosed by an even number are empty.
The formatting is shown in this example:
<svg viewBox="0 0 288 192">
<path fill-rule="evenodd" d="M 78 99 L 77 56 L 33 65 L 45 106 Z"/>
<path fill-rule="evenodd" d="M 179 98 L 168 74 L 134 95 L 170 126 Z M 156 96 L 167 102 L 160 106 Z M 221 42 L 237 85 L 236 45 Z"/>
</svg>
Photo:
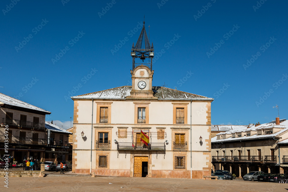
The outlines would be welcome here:
<svg viewBox="0 0 288 192">
<path fill-rule="evenodd" d="M 144 19 L 145 19 L 145 15 L 144 15 Z M 140 65 L 147 66 L 150 69 L 150 71 L 152 71 L 154 47 L 153 47 L 153 43 L 152 43 L 152 47 L 150 46 L 149 39 L 147 37 L 147 33 L 145 30 L 145 21 L 143 21 L 143 28 L 139 35 L 139 38 L 137 40 L 135 47 L 134 47 L 134 42 L 133 42 L 132 49 L 131 49 L 131 56 L 132 56 L 132 71 L 135 69 L 135 67 L 140 66 Z M 140 58 L 140 60 L 137 59 L 135 62 L 135 58 Z M 145 60 L 146 58 L 148 58 L 148 60 Z M 145 60 L 145 63 L 144 63 L 144 60 Z"/>
</svg>

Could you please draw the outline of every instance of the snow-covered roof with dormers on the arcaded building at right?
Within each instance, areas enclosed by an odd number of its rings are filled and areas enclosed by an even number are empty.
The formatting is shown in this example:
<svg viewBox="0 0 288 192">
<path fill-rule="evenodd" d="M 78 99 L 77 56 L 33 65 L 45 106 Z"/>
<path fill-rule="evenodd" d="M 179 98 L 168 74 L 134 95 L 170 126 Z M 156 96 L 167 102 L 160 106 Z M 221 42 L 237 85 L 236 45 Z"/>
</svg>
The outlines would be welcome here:
<svg viewBox="0 0 288 192">
<path fill-rule="evenodd" d="M 257 126 L 257 129 L 260 128 L 260 129 L 264 129 L 266 127 L 270 127 L 271 128 L 273 126 L 278 126 L 281 128 L 284 128 L 274 134 L 265 134 L 265 135 L 252 135 L 252 136 L 243 136 L 243 137 L 235 137 L 235 138 L 232 138 L 232 137 L 229 137 L 229 138 L 226 138 L 226 139 L 218 139 L 217 140 L 217 136 L 211 138 L 211 142 L 224 142 L 224 141 L 233 141 L 233 140 L 246 140 L 246 139 L 258 139 L 258 138 L 265 138 L 265 137 L 275 137 L 277 135 L 280 135 L 281 133 L 283 132 L 286 132 L 288 131 L 288 121 L 285 120 L 283 122 L 280 123 L 280 125 L 275 125 L 275 124 L 272 124 L 272 123 L 264 123 L 264 124 L 261 124 L 259 126 Z M 234 131 L 226 131 L 226 132 L 221 132 L 221 133 L 218 133 L 217 135 L 223 135 L 223 134 L 232 134 L 232 133 L 236 133 L 236 132 L 247 132 L 247 131 L 251 131 L 251 130 L 256 130 L 255 129 L 255 125 L 250 127 L 250 128 L 241 128 L 241 129 L 238 129 L 238 130 L 234 130 Z"/>
</svg>

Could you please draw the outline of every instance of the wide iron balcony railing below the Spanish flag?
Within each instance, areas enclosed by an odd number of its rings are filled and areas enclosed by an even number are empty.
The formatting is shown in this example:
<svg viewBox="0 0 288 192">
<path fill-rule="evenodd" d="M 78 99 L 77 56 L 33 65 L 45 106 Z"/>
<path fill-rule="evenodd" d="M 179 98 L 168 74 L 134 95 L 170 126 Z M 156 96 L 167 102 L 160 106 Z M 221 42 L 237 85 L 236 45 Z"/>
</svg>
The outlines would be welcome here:
<svg viewBox="0 0 288 192">
<path fill-rule="evenodd" d="M 139 151 L 165 151 L 165 143 L 118 142 L 117 150 L 139 150 Z"/>
</svg>

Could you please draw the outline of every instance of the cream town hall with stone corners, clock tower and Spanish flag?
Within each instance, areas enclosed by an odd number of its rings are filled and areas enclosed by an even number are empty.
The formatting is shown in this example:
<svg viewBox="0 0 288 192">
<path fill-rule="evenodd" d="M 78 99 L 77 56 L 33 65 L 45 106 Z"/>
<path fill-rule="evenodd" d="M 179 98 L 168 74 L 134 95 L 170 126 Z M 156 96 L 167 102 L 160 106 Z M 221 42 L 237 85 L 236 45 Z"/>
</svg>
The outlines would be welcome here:
<svg viewBox="0 0 288 192">
<path fill-rule="evenodd" d="M 154 47 L 144 23 L 130 53 L 132 86 L 71 97 L 72 172 L 202 179 L 211 174 L 213 98 L 152 85 Z"/>
</svg>

